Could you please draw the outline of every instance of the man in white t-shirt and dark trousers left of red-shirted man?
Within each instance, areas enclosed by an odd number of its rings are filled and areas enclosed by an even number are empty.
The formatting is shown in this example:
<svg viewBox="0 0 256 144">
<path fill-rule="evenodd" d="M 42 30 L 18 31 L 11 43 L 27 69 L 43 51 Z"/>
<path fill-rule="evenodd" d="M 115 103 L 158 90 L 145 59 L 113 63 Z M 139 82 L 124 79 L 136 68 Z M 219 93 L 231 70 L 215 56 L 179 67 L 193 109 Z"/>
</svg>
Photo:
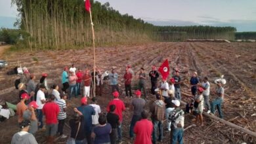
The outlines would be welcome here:
<svg viewBox="0 0 256 144">
<path fill-rule="evenodd" d="M 38 119 L 38 122 L 39 122 L 39 126 L 38 128 L 43 128 L 43 105 L 45 105 L 45 85 L 44 84 L 41 84 L 40 87 L 39 87 L 39 90 L 37 91 L 37 99 L 36 99 L 36 102 L 37 102 L 37 119 Z"/>
</svg>

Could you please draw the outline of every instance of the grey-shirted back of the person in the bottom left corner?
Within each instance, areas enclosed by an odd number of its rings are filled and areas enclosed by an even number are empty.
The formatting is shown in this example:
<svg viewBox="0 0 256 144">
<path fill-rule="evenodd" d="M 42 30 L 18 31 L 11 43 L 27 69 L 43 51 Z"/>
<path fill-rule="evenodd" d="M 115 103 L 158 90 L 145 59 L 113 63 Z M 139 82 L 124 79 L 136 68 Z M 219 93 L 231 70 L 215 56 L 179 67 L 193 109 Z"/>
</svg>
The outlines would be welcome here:
<svg viewBox="0 0 256 144">
<path fill-rule="evenodd" d="M 37 144 L 35 137 L 28 132 L 17 132 L 12 136 L 11 144 Z"/>
</svg>

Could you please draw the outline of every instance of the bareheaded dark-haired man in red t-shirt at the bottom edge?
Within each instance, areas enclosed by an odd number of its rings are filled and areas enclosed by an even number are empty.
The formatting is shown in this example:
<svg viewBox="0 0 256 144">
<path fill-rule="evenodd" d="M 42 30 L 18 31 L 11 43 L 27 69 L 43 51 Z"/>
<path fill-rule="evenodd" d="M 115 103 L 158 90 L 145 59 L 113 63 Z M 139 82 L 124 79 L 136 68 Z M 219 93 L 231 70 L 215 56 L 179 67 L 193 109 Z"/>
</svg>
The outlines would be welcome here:
<svg viewBox="0 0 256 144">
<path fill-rule="evenodd" d="M 147 119 L 148 113 L 146 111 L 142 111 L 141 117 L 142 119 L 136 122 L 135 128 L 133 129 L 136 134 L 135 144 L 151 144 L 153 124 Z"/>
</svg>

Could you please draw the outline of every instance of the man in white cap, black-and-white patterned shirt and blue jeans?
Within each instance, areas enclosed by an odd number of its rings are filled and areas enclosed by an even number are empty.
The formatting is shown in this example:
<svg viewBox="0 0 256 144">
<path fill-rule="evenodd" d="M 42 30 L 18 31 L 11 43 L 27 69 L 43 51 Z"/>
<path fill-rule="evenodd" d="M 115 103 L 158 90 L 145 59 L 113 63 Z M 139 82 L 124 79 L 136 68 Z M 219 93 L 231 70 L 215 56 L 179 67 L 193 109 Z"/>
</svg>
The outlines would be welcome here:
<svg viewBox="0 0 256 144">
<path fill-rule="evenodd" d="M 168 121 L 171 122 L 171 144 L 179 142 L 183 143 L 183 127 L 184 127 L 184 111 L 179 109 L 181 102 L 179 100 L 172 100 L 175 105 L 175 109 L 169 114 Z"/>
</svg>

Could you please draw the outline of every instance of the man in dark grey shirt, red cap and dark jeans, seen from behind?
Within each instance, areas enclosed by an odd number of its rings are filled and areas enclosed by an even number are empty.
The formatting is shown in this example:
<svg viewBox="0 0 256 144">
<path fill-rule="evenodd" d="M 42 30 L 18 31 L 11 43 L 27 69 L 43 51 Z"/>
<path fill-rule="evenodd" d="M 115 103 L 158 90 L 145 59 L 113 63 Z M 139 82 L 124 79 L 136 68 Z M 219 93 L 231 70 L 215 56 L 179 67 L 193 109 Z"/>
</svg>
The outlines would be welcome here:
<svg viewBox="0 0 256 144">
<path fill-rule="evenodd" d="M 133 139 L 133 128 L 136 124 L 137 121 L 140 120 L 141 118 L 141 112 L 144 109 L 146 101 L 142 98 L 141 92 L 137 90 L 135 92 L 136 98 L 131 101 L 131 110 L 133 109 L 133 118 L 131 119 L 131 124 L 130 124 L 130 138 Z"/>
</svg>

